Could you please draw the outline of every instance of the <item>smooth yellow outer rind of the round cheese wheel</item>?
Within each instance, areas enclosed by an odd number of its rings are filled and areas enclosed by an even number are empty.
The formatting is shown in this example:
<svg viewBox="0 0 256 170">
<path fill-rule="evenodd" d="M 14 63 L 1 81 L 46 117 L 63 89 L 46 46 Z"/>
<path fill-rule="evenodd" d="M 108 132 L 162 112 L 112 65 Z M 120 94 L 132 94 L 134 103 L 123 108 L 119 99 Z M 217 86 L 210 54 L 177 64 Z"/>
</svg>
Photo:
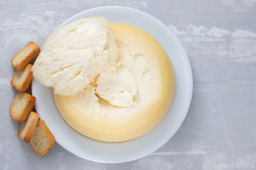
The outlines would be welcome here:
<svg viewBox="0 0 256 170">
<path fill-rule="evenodd" d="M 82 135 L 105 142 L 123 142 L 141 137 L 164 118 L 174 96 L 174 70 L 164 48 L 144 30 L 124 23 L 110 23 L 110 30 L 117 41 L 136 47 L 149 60 L 155 84 L 152 95 L 131 108 L 107 106 L 100 98 L 100 106 L 106 106 L 106 115 L 102 116 L 86 113 L 78 96 L 53 96 L 63 119 Z"/>
</svg>

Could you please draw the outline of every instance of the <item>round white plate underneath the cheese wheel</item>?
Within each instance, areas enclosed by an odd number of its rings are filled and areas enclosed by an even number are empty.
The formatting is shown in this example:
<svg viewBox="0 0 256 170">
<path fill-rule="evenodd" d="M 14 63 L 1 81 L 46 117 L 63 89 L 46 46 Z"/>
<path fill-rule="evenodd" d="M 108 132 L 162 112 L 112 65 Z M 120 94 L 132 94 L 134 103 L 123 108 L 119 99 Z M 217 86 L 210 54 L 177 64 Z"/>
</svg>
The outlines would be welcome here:
<svg viewBox="0 0 256 170">
<path fill-rule="evenodd" d="M 55 107 L 51 89 L 33 80 L 32 94 L 36 96 L 36 111 L 53 132 L 56 142 L 78 157 L 104 163 L 139 159 L 168 142 L 183 123 L 192 97 L 191 65 L 181 43 L 164 23 L 133 8 L 120 6 L 92 8 L 69 18 L 58 28 L 88 16 L 104 16 L 110 23 L 128 23 L 137 26 L 146 30 L 161 43 L 171 59 L 176 78 L 174 100 L 168 113 L 156 128 L 135 140 L 119 143 L 99 142 L 80 135 L 65 123 Z"/>
</svg>

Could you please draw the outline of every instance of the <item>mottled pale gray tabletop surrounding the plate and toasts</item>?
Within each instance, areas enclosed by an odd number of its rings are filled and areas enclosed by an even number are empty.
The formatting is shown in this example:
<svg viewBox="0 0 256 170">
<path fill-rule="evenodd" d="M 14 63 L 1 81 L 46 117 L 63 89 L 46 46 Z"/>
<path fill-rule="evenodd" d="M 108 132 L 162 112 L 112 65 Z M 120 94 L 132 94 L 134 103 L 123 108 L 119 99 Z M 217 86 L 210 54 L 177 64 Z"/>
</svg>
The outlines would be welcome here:
<svg viewBox="0 0 256 170">
<path fill-rule="evenodd" d="M 176 135 L 147 157 L 100 164 L 56 144 L 38 157 L 17 137 L 11 57 L 42 45 L 60 23 L 96 6 L 129 6 L 163 21 L 185 47 L 193 99 Z M 256 1 L 0 1 L 0 169 L 256 169 Z"/>
</svg>

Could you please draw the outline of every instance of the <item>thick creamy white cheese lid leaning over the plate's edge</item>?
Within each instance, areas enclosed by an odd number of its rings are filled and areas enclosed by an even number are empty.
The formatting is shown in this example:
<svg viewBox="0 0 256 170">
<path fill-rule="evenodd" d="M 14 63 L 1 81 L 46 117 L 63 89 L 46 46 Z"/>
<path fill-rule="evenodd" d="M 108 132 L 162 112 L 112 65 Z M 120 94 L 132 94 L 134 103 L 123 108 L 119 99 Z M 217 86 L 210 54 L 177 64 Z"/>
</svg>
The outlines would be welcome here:
<svg viewBox="0 0 256 170">
<path fill-rule="evenodd" d="M 112 67 L 118 48 L 110 26 L 100 16 L 82 18 L 52 33 L 32 70 L 55 94 L 76 95 L 98 74 Z"/>
</svg>

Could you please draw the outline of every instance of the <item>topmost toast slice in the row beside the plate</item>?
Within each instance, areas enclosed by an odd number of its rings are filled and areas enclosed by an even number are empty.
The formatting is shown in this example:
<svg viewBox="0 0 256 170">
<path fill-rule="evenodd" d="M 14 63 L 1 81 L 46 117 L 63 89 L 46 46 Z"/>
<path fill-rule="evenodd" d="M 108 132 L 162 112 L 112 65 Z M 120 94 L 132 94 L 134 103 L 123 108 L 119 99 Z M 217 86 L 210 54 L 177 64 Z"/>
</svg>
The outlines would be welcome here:
<svg viewBox="0 0 256 170">
<path fill-rule="evenodd" d="M 36 57 L 40 52 L 40 47 L 36 45 L 35 42 L 31 41 L 23 47 L 14 57 L 11 59 L 11 63 L 16 69 L 23 69 L 26 67 L 28 62 L 30 62 L 34 57 Z"/>
</svg>

